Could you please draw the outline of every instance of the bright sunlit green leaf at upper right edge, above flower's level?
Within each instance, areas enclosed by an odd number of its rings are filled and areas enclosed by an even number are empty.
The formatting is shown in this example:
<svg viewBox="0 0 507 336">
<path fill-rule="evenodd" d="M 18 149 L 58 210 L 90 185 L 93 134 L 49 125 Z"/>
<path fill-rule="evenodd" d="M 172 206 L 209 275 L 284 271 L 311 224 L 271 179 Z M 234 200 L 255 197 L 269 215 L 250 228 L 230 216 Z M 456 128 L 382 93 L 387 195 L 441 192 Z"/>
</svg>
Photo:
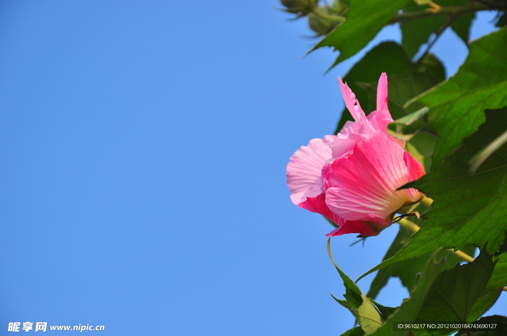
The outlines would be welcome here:
<svg viewBox="0 0 507 336">
<path fill-rule="evenodd" d="M 431 128 L 440 136 L 433 154 L 439 165 L 477 131 L 485 109 L 507 105 L 507 28 L 472 42 L 459 71 L 418 101 L 430 107 Z"/>
</svg>

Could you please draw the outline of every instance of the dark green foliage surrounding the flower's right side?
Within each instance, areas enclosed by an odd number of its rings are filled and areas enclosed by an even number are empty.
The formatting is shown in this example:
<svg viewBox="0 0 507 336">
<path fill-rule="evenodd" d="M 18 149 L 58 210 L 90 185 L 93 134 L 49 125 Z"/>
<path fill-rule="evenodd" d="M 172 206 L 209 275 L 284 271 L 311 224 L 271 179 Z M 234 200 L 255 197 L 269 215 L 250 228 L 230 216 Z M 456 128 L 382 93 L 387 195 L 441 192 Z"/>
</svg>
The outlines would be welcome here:
<svg viewBox="0 0 507 336">
<path fill-rule="evenodd" d="M 405 150 L 426 171 L 403 188 L 416 188 L 433 199 L 431 203 L 424 198 L 425 205 L 406 204 L 392 214 L 417 212 L 422 217 L 402 219 L 382 263 L 366 273 L 378 270 L 367 296 L 335 264 L 345 294 L 344 300 L 333 298 L 360 325 L 342 336 L 446 336 L 458 330 L 408 333 L 393 330 L 392 322 L 478 319 L 481 323 L 505 322 L 506 327 L 480 334 L 507 334 L 507 317 L 481 318 L 507 285 L 507 1 L 335 0 L 325 5 L 298 0 L 290 6 L 310 3 L 316 7 L 311 11 L 308 7 L 305 13 L 298 9 L 297 14 L 308 15 L 317 34 L 329 32 L 312 50 L 338 50 L 334 65 L 365 47 L 385 25 L 400 23 L 402 45 L 384 42 L 376 46 L 343 81 L 369 114 L 376 109 L 378 78 L 387 73 L 388 106 L 394 119 L 388 133 L 405 141 Z M 446 81 L 442 63 L 422 52 L 421 46 L 431 44 L 434 36 L 438 38 L 449 27 L 468 46 L 475 12 L 489 9 L 499 11 L 496 25 L 504 28 L 470 43 L 465 63 Z M 418 52 L 422 56 L 413 60 Z M 336 132 L 348 120 L 352 117 L 345 109 Z M 481 254 L 473 260 L 470 256 L 476 247 L 481 247 Z M 463 259 L 468 263 L 460 264 Z M 374 301 L 390 277 L 400 278 L 410 293 L 395 308 Z M 457 334 L 479 331 L 459 330 Z"/>
</svg>

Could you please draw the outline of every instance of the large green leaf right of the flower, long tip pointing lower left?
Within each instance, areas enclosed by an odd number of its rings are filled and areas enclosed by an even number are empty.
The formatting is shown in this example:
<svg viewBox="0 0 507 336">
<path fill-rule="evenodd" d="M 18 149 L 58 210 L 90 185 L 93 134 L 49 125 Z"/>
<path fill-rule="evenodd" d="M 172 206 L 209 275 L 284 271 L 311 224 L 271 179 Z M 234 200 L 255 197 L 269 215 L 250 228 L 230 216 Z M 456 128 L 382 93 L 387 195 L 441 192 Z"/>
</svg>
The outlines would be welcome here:
<svg viewBox="0 0 507 336">
<path fill-rule="evenodd" d="M 366 274 L 438 248 L 486 244 L 489 253 L 498 250 L 507 229 L 507 146 L 488 157 L 474 174 L 468 173 L 470 157 L 507 128 L 507 108 L 487 111 L 486 115 L 487 121 L 456 153 L 429 174 L 406 185 L 434 199 L 431 211 L 425 215 L 422 228 L 399 253 Z"/>
</svg>

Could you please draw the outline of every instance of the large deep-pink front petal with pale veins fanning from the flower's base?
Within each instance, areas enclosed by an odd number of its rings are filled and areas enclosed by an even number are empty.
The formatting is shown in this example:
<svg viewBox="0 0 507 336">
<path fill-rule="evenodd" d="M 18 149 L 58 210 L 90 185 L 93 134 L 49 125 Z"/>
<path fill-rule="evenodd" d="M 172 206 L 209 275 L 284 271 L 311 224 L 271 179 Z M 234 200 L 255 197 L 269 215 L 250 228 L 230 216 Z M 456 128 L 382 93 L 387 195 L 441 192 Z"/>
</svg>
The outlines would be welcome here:
<svg viewBox="0 0 507 336">
<path fill-rule="evenodd" d="M 390 225 L 389 215 L 407 201 L 397 188 L 407 182 L 404 150 L 382 132 L 355 145 L 353 154 L 336 159 L 328 174 L 325 200 L 345 220 Z M 380 220 L 381 218 L 382 220 Z"/>
</svg>

